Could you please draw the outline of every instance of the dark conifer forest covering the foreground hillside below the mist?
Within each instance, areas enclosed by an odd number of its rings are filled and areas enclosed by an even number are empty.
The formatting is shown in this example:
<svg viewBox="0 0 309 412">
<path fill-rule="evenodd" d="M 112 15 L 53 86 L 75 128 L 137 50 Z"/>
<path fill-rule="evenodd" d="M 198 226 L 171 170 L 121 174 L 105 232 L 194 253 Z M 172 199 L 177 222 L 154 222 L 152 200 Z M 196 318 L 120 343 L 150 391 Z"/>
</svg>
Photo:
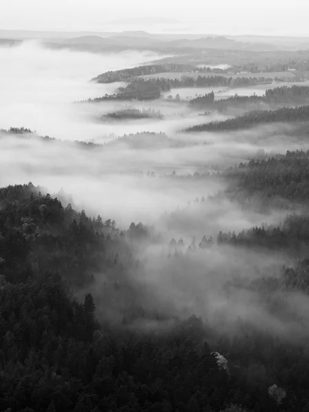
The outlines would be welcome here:
<svg viewBox="0 0 309 412">
<path fill-rule="evenodd" d="M 241 320 L 238 333 L 229 339 L 196 317 L 170 319 L 159 304 L 157 310 L 143 308 L 149 290 L 129 273 L 144 270 L 134 258 L 135 245 L 161 241 L 151 228 L 132 223 L 128 230 L 119 231 L 110 218 L 89 218 L 71 205 L 63 207 L 32 183 L 1 189 L 0 202 L 3 411 L 112 407 L 123 412 L 301 412 L 309 406 L 306 345 L 282 341 Z M 294 238 L 309 240 L 304 221 L 298 218 L 296 224 L 297 218 L 291 216 L 274 229 L 256 227 L 235 236 L 221 232 L 215 241 L 203 238 L 198 249 L 206 253 L 209 247 L 226 244 L 279 248 L 282 236 L 288 240 L 284 247 L 297 248 Z M 302 238 L 298 233 L 303 233 Z M 175 243 L 171 242 L 170 251 Z M 181 244 L 176 247 L 181 249 Z M 169 259 L 193 263 L 195 248 L 192 243 L 187 258 L 175 254 Z M 99 267 L 105 313 L 113 301 L 124 302 L 122 308 L 113 306 L 123 319 L 117 329 L 98 322 L 95 311 L 98 307 L 102 311 L 102 302 L 91 293 L 81 301 L 70 293 L 69 285 L 90 287 Z M 296 321 L 284 295 L 297 290 L 308 293 L 308 270 L 303 262 L 283 268 L 279 276 L 238 283 L 238 288 L 258 294 L 273 317 Z M 236 279 L 227 287 L 235 287 L 233 282 Z M 128 324 L 136 319 L 172 323 L 164 333 L 130 332 Z M 210 338 L 215 338 L 219 358 L 207 343 Z M 220 356 L 227 358 L 228 369 L 218 361 Z"/>
</svg>

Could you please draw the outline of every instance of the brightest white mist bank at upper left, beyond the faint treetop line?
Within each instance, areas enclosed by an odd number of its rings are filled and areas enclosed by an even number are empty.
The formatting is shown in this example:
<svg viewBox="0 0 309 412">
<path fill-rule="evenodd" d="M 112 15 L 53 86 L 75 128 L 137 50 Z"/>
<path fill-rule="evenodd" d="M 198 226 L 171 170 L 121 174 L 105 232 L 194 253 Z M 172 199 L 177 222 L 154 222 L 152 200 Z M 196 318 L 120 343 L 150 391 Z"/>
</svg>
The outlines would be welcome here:
<svg viewBox="0 0 309 412">
<path fill-rule="evenodd" d="M 89 122 L 83 108 L 73 102 L 114 93 L 124 84 L 89 80 L 154 56 L 149 52 L 91 54 L 47 49 L 34 41 L 0 47 L 0 128 L 26 127 L 60 139 L 96 137 L 100 126 Z"/>
</svg>

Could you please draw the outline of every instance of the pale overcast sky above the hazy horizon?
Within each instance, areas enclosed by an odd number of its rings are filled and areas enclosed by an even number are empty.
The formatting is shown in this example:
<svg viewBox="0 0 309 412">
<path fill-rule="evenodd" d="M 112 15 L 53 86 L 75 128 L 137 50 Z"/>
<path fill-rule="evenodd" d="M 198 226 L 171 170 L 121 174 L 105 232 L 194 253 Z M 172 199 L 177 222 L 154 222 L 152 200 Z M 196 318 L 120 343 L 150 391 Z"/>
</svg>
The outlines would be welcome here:
<svg viewBox="0 0 309 412">
<path fill-rule="evenodd" d="M 0 8 L 8 30 L 309 36 L 308 0 L 0 0 Z"/>
</svg>

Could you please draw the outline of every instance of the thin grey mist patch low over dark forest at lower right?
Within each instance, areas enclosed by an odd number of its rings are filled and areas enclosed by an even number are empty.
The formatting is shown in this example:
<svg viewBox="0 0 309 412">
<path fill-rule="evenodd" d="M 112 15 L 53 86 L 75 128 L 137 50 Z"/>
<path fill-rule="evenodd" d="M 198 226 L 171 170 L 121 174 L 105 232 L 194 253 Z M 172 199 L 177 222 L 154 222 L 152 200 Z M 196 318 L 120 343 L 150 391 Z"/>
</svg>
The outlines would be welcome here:
<svg viewBox="0 0 309 412">
<path fill-rule="evenodd" d="M 159 290 L 161 298 L 175 304 L 176 312 L 197 314 L 214 326 L 229 328 L 229 332 L 238 317 L 267 330 L 290 329 L 267 313 L 258 295 L 232 286 L 235 279 L 244 285 L 262 276 L 279 275 L 282 262 L 275 256 L 223 247 L 170 259 L 158 260 L 153 255 L 145 265 L 148 282 Z M 226 288 L 228 282 L 231 286 Z"/>
</svg>

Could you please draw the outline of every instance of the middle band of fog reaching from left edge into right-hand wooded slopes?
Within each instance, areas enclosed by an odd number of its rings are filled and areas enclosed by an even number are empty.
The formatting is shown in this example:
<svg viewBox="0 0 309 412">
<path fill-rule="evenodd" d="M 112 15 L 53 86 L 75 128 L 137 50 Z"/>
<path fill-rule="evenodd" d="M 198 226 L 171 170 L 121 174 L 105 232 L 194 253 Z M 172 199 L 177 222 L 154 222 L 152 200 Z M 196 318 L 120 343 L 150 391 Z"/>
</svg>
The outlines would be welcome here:
<svg viewBox="0 0 309 412">
<path fill-rule="evenodd" d="M 130 127 L 127 133 L 129 131 Z M 272 131 L 270 126 L 264 126 L 246 133 L 181 133 L 168 137 L 163 147 L 150 144 L 140 148 L 126 141 L 87 148 L 69 141 L 44 141 L 33 135 L 0 133 L 0 183 L 3 186 L 32 181 L 53 193 L 62 187 L 80 209 L 95 216 L 115 218 L 122 227 L 128 227 L 132 221 L 159 225 L 165 211 L 185 208 L 196 197 L 207 198 L 225 190 L 222 179 L 192 181 L 165 178 L 165 174 L 208 172 L 216 165 L 227 168 L 247 161 L 259 148 L 284 152 L 290 145 L 282 141 L 282 136 L 274 136 L 269 141 L 262 139 Z M 147 172 L 154 172 L 155 177 L 146 176 Z M 207 201 L 185 209 L 181 222 L 176 224 L 178 228 L 173 228 L 168 236 L 190 238 L 207 233 L 216 236 L 219 230 L 241 231 L 260 225 L 263 220 L 277 223 L 283 217 L 284 211 L 265 216 L 243 211 L 240 205 L 228 200 L 219 204 Z M 166 232 L 162 225 L 160 229 Z"/>
</svg>

